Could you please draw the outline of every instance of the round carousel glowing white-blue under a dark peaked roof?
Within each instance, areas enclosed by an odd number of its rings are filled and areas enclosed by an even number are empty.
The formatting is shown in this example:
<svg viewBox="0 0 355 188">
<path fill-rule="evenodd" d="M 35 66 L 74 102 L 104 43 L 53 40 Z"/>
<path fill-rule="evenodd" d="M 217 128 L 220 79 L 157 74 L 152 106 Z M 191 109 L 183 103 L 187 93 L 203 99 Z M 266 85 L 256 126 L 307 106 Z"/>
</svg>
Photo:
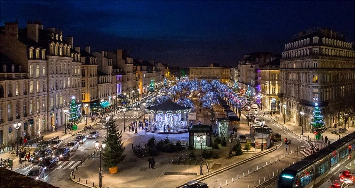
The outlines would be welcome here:
<svg viewBox="0 0 355 188">
<path fill-rule="evenodd" d="M 187 132 L 190 107 L 181 106 L 170 100 L 157 106 L 148 107 L 148 131 L 155 133 Z"/>
</svg>

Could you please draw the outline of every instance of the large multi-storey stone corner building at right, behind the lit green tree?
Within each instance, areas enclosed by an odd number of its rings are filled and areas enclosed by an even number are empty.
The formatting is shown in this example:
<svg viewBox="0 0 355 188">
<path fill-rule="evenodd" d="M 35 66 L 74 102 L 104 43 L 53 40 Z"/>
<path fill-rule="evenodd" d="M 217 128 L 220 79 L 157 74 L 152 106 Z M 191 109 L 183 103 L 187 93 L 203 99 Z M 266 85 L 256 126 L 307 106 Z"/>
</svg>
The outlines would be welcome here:
<svg viewBox="0 0 355 188">
<path fill-rule="evenodd" d="M 285 44 L 280 65 L 282 115 L 307 126 L 318 102 L 326 124 L 332 116 L 327 107 L 343 97 L 354 97 L 354 46 L 338 32 L 311 28 Z M 300 112 L 305 115 L 302 118 Z"/>
</svg>

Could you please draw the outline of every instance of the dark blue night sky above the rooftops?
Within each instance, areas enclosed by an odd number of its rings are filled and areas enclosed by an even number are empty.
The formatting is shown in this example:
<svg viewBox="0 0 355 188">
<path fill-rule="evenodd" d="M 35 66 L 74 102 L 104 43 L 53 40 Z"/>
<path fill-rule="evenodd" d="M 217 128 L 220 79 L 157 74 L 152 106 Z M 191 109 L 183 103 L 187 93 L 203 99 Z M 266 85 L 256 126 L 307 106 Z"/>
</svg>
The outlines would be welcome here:
<svg viewBox="0 0 355 188">
<path fill-rule="evenodd" d="M 74 46 L 129 50 L 190 67 L 236 65 L 253 51 L 281 53 L 294 34 L 326 27 L 354 41 L 354 1 L 1 1 L 1 25 L 41 20 Z"/>
</svg>

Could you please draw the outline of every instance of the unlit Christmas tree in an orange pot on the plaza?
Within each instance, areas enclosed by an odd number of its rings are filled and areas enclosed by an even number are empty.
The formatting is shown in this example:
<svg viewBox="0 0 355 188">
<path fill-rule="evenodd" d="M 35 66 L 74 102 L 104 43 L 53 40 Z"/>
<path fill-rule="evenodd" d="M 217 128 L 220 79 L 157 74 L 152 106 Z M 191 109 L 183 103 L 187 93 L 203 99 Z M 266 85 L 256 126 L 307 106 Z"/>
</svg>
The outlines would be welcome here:
<svg viewBox="0 0 355 188">
<path fill-rule="evenodd" d="M 103 160 L 105 166 L 109 167 L 109 173 L 115 174 L 118 172 L 118 164 L 125 159 L 126 155 L 123 154 L 124 147 L 121 133 L 118 131 L 114 121 L 110 119 L 107 124 L 108 130 L 107 138 L 104 139 L 106 147 L 103 152 Z"/>
</svg>

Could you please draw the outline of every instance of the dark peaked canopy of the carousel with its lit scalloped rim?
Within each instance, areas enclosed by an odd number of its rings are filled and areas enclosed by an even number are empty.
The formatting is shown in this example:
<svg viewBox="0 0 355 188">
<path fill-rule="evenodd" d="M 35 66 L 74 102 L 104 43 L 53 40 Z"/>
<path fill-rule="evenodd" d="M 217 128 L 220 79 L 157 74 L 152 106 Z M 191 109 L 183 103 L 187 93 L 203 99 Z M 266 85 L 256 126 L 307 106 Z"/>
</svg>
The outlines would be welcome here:
<svg viewBox="0 0 355 188">
<path fill-rule="evenodd" d="M 165 101 L 161 104 L 158 104 L 154 107 L 148 107 L 146 111 L 152 114 L 180 114 L 191 112 L 190 107 L 181 106 L 180 104 L 176 104 L 173 101 Z"/>
</svg>

